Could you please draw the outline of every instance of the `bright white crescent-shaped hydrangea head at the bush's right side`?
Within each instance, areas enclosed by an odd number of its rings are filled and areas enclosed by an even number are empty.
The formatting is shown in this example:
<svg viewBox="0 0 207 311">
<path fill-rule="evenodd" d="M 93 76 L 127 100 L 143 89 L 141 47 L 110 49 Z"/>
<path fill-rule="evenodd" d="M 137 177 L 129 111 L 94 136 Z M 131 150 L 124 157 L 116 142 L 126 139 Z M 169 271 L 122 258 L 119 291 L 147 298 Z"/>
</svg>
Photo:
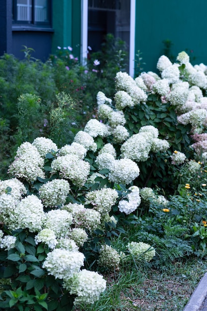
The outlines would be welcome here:
<svg viewBox="0 0 207 311">
<path fill-rule="evenodd" d="M 137 186 L 132 186 L 129 188 L 129 190 L 132 192 L 128 193 L 127 195 L 128 201 L 121 200 L 118 205 L 120 212 L 123 212 L 127 215 L 133 213 L 141 203 L 139 188 Z"/>
</svg>

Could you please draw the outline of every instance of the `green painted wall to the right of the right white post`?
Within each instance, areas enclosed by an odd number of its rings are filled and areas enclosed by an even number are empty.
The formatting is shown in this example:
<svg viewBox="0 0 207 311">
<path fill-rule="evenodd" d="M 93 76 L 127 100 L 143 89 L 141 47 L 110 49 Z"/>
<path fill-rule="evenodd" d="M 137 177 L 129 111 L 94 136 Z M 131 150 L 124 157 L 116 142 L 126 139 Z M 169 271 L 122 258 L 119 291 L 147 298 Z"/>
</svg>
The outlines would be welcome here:
<svg viewBox="0 0 207 311">
<path fill-rule="evenodd" d="M 142 52 L 144 71 L 156 71 L 166 39 L 173 56 L 187 49 L 192 64 L 207 64 L 206 14 L 207 0 L 136 0 L 135 54 Z"/>
</svg>

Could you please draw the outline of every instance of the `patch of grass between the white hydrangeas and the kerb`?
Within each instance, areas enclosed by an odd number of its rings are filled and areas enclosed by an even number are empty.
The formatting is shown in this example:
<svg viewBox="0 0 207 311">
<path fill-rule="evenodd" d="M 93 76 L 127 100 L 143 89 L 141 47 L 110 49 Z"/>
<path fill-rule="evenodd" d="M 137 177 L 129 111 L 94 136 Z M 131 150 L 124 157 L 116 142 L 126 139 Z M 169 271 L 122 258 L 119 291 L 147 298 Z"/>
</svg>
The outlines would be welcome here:
<svg viewBox="0 0 207 311">
<path fill-rule="evenodd" d="M 107 289 L 99 301 L 75 311 L 182 311 L 200 279 L 207 260 L 174 262 L 166 271 L 120 267 L 105 275 Z"/>
</svg>

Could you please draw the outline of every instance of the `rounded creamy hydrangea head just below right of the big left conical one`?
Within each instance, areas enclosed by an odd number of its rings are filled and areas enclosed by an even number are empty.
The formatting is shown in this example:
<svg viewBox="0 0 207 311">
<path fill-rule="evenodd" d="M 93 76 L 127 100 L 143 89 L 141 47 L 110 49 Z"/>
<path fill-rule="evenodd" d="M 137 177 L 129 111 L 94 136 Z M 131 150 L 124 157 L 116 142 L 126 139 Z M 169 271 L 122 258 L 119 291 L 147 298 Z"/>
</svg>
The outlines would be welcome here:
<svg viewBox="0 0 207 311">
<path fill-rule="evenodd" d="M 39 188 L 39 196 L 45 207 L 57 207 L 66 202 L 69 194 L 69 182 L 64 179 L 53 179 Z"/>
</svg>

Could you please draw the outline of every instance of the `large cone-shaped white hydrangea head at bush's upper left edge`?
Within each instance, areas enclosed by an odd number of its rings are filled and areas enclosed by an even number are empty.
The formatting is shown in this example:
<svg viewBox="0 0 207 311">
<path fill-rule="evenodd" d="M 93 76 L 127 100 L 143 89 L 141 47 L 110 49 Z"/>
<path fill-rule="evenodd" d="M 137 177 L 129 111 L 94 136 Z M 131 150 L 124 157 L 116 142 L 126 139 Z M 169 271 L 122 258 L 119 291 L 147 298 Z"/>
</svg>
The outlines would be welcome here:
<svg viewBox="0 0 207 311">
<path fill-rule="evenodd" d="M 14 161 L 8 168 L 8 173 L 20 179 L 35 181 L 37 177 L 45 178 L 43 172 L 44 159 L 37 148 L 26 142 L 18 147 Z"/>
</svg>

